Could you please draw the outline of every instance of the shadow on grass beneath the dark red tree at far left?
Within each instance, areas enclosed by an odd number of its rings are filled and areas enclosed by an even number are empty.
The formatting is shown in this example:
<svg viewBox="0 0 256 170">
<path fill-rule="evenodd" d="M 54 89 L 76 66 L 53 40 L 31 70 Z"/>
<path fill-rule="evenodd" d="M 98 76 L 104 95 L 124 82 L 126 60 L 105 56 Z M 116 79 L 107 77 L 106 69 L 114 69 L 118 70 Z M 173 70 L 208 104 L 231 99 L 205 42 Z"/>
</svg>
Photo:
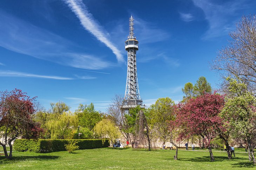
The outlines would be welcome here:
<svg viewBox="0 0 256 170">
<path fill-rule="evenodd" d="M 7 164 L 7 163 L 14 163 L 14 162 L 20 162 L 25 160 L 55 160 L 58 159 L 59 156 L 49 156 L 49 155 L 38 155 L 38 156 L 12 156 L 10 160 L 6 159 L 4 156 L 0 157 L 0 164 Z"/>
</svg>

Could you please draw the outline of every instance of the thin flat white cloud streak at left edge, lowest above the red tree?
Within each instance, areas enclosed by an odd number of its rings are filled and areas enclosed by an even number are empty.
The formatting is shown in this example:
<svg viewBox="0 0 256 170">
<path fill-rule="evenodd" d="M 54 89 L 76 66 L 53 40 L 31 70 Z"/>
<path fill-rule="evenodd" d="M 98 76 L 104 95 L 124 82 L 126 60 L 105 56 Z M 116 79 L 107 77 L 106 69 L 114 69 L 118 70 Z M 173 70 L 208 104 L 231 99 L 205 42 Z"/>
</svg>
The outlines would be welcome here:
<svg viewBox="0 0 256 170">
<path fill-rule="evenodd" d="M 0 76 L 1 77 L 34 77 L 34 78 L 55 79 L 55 80 L 73 80 L 73 78 L 70 78 L 70 77 L 39 75 L 39 74 L 31 74 L 31 73 L 23 73 L 23 72 L 15 72 L 15 71 L 0 71 Z"/>
</svg>

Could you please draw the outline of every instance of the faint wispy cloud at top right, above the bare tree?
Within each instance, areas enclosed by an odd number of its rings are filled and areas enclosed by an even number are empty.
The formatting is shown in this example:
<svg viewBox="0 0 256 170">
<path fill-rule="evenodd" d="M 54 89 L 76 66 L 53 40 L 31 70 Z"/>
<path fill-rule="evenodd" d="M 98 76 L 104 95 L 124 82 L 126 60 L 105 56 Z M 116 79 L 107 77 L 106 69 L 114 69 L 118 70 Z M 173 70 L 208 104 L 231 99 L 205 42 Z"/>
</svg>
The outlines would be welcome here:
<svg viewBox="0 0 256 170">
<path fill-rule="evenodd" d="M 193 2 L 203 10 L 205 19 L 209 22 L 210 27 L 203 39 L 227 35 L 234 29 L 234 23 L 241 18 L 240 13 L 237 13 L 238 10 L 248 6 L 246 0 L 224 1 L 219 4 L 214 0 L 193 0 Z"/>
</svg>

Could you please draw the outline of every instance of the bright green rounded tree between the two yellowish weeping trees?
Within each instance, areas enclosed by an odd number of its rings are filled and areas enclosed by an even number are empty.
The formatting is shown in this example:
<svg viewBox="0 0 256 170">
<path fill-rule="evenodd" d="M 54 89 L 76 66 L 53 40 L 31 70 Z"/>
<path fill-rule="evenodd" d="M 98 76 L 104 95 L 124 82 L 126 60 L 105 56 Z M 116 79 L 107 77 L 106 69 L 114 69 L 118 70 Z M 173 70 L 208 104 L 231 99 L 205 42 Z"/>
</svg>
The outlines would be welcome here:
<svg viewBox="0 0 256 170">
<path fill-rule="evenodd" d="M 80 112 L 81 110 L 81 112 Z M 76 110 L 78 115 L 79 125 L 93 130 L 96 123 L 102 120 L 101 114 L 95 110 L 93 103 L 89 105 L 80 104 L 79 109 Z"/>
</svg>

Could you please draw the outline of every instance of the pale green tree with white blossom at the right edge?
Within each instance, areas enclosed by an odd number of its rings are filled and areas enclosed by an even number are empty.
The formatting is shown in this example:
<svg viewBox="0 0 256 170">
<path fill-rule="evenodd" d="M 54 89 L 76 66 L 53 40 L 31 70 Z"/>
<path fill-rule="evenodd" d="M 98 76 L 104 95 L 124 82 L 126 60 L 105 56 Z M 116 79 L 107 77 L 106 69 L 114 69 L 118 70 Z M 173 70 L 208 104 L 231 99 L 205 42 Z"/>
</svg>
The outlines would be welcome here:
<svg viewBox="0 0 256 170">
<path fill-rule="evenodd" d="M 256 163 L 254 157 L 256 138 L 256 97 L 247 90 L 242 81 L 227 79 L 231 98 L 227 98 L 220 116 L 230 126 L 234 138 L 242 138 L 247 141 L 249 159 Z"/>
</svg>

